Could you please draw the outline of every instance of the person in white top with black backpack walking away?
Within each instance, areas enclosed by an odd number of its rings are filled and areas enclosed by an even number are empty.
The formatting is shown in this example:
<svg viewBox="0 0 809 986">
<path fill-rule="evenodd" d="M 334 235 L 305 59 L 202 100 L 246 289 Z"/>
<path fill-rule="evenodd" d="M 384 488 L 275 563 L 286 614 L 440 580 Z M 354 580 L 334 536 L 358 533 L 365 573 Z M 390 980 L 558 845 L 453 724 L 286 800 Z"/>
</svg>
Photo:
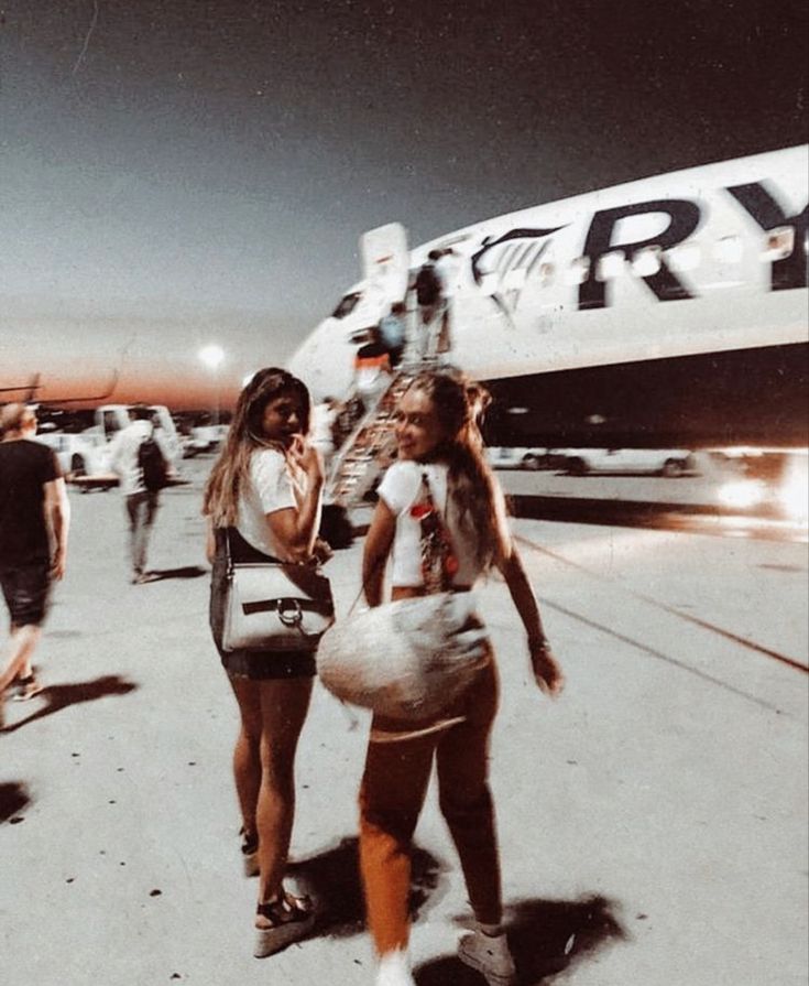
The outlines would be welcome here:
<svg viewBox="0 0 809 986">
<path fill-rule="evenodd" d="M 153 576 L 146 572 L 146 550 L 160 507 L 160 490 L 166 485 L 167 455 L 152 420 L 142 405 L 129 410 L 130 424 L 110 444 L 110 467 L 121 479 L 129 519 L 132 583 L 142 585 Z"/>
</svg>

